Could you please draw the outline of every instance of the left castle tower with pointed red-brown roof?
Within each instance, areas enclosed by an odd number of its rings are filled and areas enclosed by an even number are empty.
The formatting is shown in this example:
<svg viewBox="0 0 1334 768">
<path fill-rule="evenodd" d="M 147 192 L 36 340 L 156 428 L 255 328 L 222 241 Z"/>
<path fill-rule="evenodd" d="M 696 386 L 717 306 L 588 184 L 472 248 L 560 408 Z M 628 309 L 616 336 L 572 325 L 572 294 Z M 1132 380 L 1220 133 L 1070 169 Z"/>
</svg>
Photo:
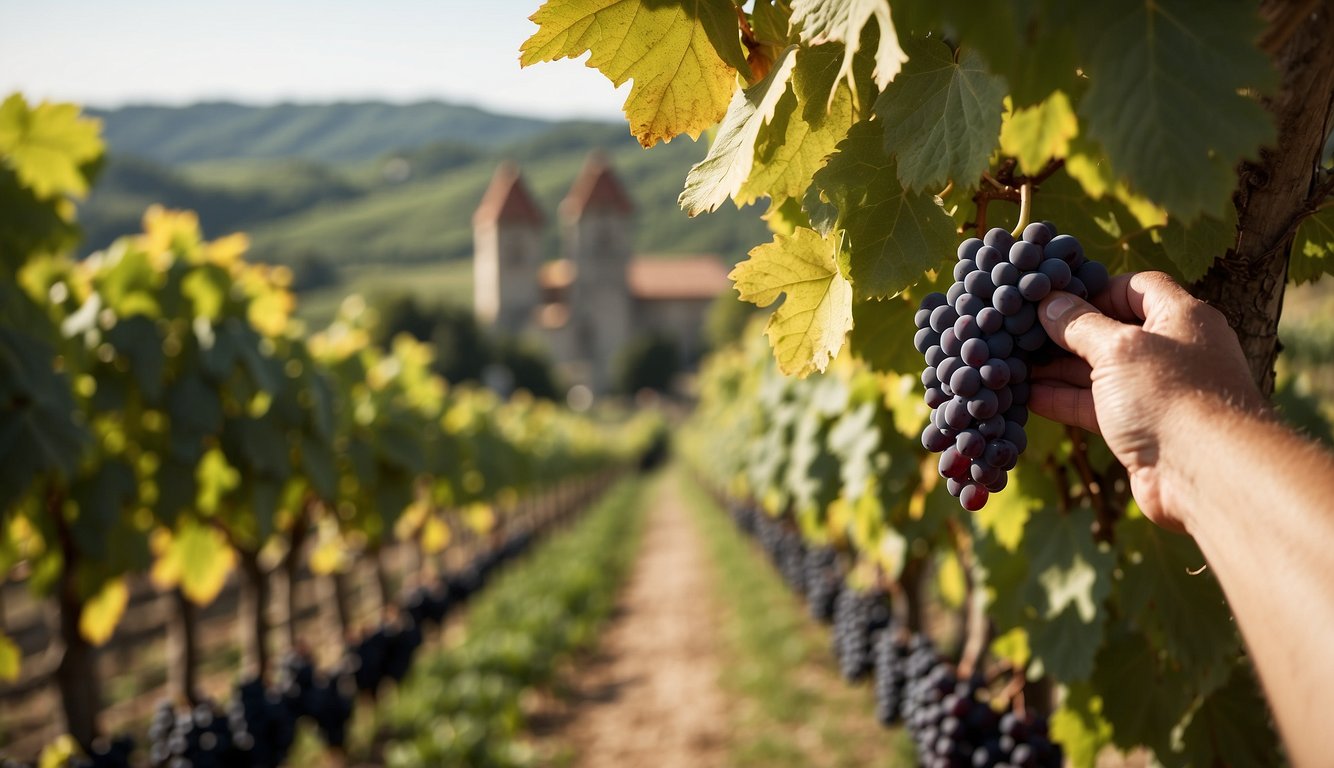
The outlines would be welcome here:
<svg viewBox="0 0 1334 768">
<path fill-rule="evenodd" d="M 519 169 L 503 163 L 472 213 L 472 297 L 480 324 L 507 335 L 527 329 L 540 301 L 542 227 L 542 211 Z"/>
</svg>

